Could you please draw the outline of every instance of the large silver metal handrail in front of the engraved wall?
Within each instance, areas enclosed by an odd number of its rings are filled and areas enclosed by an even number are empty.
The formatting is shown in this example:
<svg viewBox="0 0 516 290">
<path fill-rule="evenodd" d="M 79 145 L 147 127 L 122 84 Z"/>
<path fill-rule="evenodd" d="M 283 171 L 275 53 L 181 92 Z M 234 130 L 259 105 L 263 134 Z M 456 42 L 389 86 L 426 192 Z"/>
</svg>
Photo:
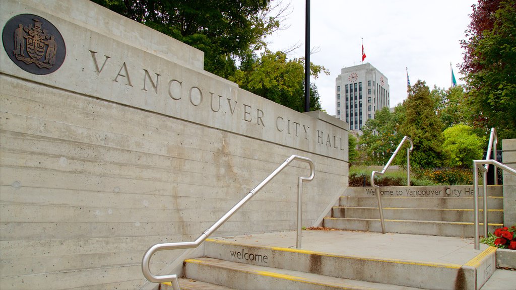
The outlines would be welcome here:
<svg viewBox="0 0 516 290">
<path fill-rule="evenodd" d="M 147 252 L 143 255 L 143 259 L 141 261 L 141 270 L 143 272 L 143 276 L 147 278 L 150 282 L 154 283 L 160 283 L 160 282 L 169 282 L 172 281 L 172 288 L 174 290 L 179 290 L 179 282 L 177 275 L 162 275 L 162 276 L 155 276 L 151 273 L 151 270 L 149 268 L 151 257 L 154 255 L 154 253 L 158 251 L 164 251 L 164 250 L 174 250 L 174 249 L 189 249 L 182 255 L 180 255 L 178 258 L 176 258 L 175 261 L 183 260 L 183 257 L 187 256 L 188 253 L 190 253 L 193 249 L 197 248 L 199 245 L 202 244 L 204 240 L 206 240 L 211 234 L 213 234 L 220 226 L 227 221 L 236 211 L 239 210 L 240 207 L 242 207 L 244 204 L 246 204 L 262 187 L 264 187 L 266 184 L 268 184 L 273 178 L 275 178 L 278 173 L 280 173 L 288 164 L 293 162 L 294 160 L 299 160 L 301 162 L 308 163 L 310 165 L 310 176 L 309 177 L 299 177 L 298 178 L 298 197 L 297 197 L 297 238 L 296 238 L 296 247 L 299 249 L 301 248 L 301 219 L 302 219 L 302 183 L 303 182 L 310 182 L 314 179 L 315 176 L 315 168 L 314 163 L 310 158 L 301 157 L 298 155 L 292 155 L 288 157 L 283 164 L 281 164 L 276 170 L 274 170 L 267 178 L 265 178 L 259 185 L 254 187 L 251 191 L 249 191 L 249 194 L 247 194 L 246 197 L 244 197 L 242 200 L 240 200 L 237 204 L 235 204 L 231 210 L 229 210 L 227 213 L 225 213 L 218 221 L 216 221 L 211 227 L 209 227 L 207 230 L 205 230 L 195 241 L 184 241 L 184 242 L 176 242 L 176 243 L 162 243 L 162 244 L 156 244 L 152 247 L 150 247 Z M 175 263 L 172 262 L 173 263 Z M 181 263 L 183 261 L 180 261 Z"/>
</svg>

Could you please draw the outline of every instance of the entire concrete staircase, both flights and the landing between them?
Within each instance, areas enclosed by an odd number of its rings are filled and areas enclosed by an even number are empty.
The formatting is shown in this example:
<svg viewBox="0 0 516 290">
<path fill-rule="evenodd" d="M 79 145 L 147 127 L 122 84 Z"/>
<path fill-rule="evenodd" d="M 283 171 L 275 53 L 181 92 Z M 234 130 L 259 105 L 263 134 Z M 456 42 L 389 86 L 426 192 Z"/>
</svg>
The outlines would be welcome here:
<svg viewBox="0 0 516 290">
<path fill-rule="evenodd" d="M 381 189 L 391 234 L 378 233 L 375 192 L 348 188 L 323 224 L 344 231 L 303 231 L 302 249 L 288 246 L 295 232 L 207 239 L 202 257 L 184 261 L 181 288 L 481 289 L 494 272 L 516 281 L 496 270 L 496 248 L 473 249 L 471 188 L 413 188 Z M 501 187 L 490 186 L 488 199 L 492 232 L 503 221 Z M 502 260 L 515 260 L 509 254 Z"/>
</svg>

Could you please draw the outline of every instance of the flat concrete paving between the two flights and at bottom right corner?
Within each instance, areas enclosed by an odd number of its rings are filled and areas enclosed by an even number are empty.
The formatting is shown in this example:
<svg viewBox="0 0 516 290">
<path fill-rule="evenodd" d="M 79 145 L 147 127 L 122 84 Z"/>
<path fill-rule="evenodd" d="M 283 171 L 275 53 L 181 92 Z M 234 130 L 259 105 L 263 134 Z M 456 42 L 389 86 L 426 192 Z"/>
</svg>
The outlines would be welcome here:
<svg viewBox="0 0 516 290">
<path fill-rule="evenodd" d="M 254 246 L 296 248 L 295 231 L 214 239 Z M 417 264 L 464 265 L 488 248 L 480 244 L 480 250 L 475 250 L 472 238 L 339 230 L 304 230 L 301 242 L 302 250 Z M 482 289 L 516 289 L 516 271 L 498 269 Z"/>
</svg>

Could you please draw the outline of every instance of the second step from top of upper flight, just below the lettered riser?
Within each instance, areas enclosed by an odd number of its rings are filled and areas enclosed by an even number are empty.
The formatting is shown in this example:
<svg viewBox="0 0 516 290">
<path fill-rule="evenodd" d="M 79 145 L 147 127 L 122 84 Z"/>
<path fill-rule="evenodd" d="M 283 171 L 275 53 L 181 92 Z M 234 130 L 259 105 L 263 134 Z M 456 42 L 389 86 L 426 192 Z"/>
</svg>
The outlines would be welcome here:
<svg viewBox="0 0 516 290">
<path fill-rule="evenodd" d="M 383 207 L 404 208 L 442 208 L 442 209 L 472 209 L 472 197 L 381 197 Z M 488 209 L 500 210 L 503 208 L 503 197 L 488 197 Z M 340 206 L 378 207 L 377 197 L 349 197 L 342 196 Z M 478 199 L 482 207 L 482 198 Z"/>
</svg>

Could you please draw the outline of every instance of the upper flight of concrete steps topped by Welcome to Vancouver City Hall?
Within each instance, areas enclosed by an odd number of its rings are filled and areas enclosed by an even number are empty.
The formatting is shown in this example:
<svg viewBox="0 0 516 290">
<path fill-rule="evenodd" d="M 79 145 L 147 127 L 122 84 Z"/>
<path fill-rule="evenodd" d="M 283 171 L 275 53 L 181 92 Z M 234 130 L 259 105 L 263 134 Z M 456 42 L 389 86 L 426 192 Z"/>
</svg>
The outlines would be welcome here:
<svg viewBox="0 0 516 290">
<path fill-rule="evenodd" d="M 471 186 L 382 187 L 381 194 L 386 232 L 474 236 Z M 482 203 L 480 198 L 480 208 Z M 482 216 L 482 211 L 480 213 Z M 338 205 L 332 208 L 331 216 L 324 218 L 323 225 L 341 230 L 381 232 L 379 216 L 373 189 L 349 187 Z M 488 222 L 490 232 L 502 226 L 502 186 L 488 188 Z"/>
</svg>

